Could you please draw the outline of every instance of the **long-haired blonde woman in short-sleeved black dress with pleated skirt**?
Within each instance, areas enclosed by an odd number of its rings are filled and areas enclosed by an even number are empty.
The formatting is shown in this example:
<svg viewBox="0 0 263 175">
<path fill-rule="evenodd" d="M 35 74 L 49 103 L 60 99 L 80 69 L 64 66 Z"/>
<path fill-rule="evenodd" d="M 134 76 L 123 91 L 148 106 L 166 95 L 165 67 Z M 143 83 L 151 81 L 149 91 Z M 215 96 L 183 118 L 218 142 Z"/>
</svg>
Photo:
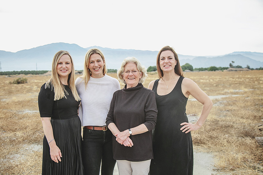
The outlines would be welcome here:
<svg viewBox="0 0 263 175">
<path fill-rule="evenodd" d="M 45 133 L 42 175 L 83 175 L 79 104 L 72 58 L 67 51 L 59 51 L 52 62 L 51 79 L 38 95 Z"/>
</svg>

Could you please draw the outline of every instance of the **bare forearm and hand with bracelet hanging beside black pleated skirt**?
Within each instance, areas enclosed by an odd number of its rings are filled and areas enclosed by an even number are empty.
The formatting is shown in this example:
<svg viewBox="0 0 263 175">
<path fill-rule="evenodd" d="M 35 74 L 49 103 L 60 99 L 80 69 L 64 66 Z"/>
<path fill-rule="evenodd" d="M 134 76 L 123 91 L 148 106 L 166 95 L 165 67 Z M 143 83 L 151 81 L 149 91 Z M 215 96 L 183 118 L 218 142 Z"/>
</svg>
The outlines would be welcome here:
<svg viewBox="0 0 263 175">
<path fill-rule="evenodd" d="M 51 117 L 41 117 L 41 121 L 42 121 L 42 125 L 43 125 L 43 130 L 47 139 L 47 142 L 50 142 L 52 139 L 54 139 L 54 135 L 53 135 L 53 129 L 51 126 Z M 51 159 L 54 162 L 61 162 L 61 158 L 62 154 L 60 149 L 56 146 L 56 141 L 53 140 L 49 143 L 49 147 L 50 147 L 50 156 Z"/>
</svg>

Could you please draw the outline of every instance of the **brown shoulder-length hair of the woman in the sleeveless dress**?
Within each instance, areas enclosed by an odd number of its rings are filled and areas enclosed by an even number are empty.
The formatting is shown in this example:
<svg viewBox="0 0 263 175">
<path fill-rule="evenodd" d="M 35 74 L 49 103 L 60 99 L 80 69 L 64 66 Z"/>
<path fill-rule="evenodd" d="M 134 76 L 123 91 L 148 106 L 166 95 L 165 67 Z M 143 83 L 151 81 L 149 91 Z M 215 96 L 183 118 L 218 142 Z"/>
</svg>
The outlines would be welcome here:
<svg viewBox="0 0 263 175">
<path fill-rule="evenodd" d="M 164 76 L 164 72 L 163 70 L 161 69 L 160 67 L 160 55 L 163 51 L 166 51 L 166 50 L 170 50 L 171 52 L 174 53 L 174 58 L 176 60 L 176 65 L 174 67 L 174 72 L 175 74 L 177 75 L 180 75 L 180 76 L 183 76 L 183 69 L 181 68 L 180 66 L 180 62 L 179 62 L 179 59 L 178 59 L 178 55 L 176 54 L 176 52 L 174 51 L 174 48 L 170 47 L 170 46 L 165 46 L 163 47 L 158 55 L 157 55 L 157 60 L 156 60 L 156 68 L 157 68 L 157 72 L 158 72 L 158 78 L 162 78 Z"/>
</svg>

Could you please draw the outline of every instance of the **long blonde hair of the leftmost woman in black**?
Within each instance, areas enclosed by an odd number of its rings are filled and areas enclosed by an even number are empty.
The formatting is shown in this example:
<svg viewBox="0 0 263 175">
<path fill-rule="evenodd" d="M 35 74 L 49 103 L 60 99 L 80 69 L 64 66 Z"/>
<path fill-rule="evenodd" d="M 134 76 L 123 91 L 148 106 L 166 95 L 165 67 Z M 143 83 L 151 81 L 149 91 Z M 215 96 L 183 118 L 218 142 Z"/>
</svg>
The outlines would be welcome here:
<svg viewBox="0 0 263 175">
<path fill-rule="evenodd" d="M 59 59 L 61 58 L 61 56 L 64 54 L 67 54 L 70 57 L 71 63 L 72 63 L 71 73 L 68 75 L 68 79 L 67 79 L 68 86 L 70 90 L 72 91 L 72 94 L 75 100 L 80 101 L 81 99 L 78 95 L 78 92 L 75 86 L 75 69 L 74 69 L 73 60 L 72 60 L 71 55 L 67 51 L 61 50 L 55 54 L 53 61 L 52 61 L 51 79 L 49 79 L 46 82 L 45 88 L 50 87 L 50 85 L 51 85 L 51 89 L 54 88 L 54 92 L 55 92 L 54 100 L 60 100 L 64 97 L 67 99 L 65 93 L 68 95 L 68 92 L 67 90 L 65 90 L 64 85 L 59 80 L 58 73 L 56 70 L 57 63 Z"/>
</svg>

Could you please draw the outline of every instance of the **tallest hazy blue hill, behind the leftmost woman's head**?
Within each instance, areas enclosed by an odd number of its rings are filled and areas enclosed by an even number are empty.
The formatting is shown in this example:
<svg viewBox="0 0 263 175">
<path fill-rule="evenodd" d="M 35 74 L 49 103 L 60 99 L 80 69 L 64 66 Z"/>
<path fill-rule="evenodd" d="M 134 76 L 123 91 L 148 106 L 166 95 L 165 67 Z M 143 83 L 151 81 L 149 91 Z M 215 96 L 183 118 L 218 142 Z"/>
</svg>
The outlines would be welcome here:
<svg viewBox="0 0 263 175">
<path fill-rule="evenodd" d="M 59 50 L 67 50 L 77 67 L 80 68 L 83 65 L 78 60 L 84 58 L 86 49 L 77 44 L 52 43 L 16 53 L 0 51 L 2 71 L 36 70 L 36 63 L 38 70 L 51 70 L 53 57 Z"/>
</svg>

